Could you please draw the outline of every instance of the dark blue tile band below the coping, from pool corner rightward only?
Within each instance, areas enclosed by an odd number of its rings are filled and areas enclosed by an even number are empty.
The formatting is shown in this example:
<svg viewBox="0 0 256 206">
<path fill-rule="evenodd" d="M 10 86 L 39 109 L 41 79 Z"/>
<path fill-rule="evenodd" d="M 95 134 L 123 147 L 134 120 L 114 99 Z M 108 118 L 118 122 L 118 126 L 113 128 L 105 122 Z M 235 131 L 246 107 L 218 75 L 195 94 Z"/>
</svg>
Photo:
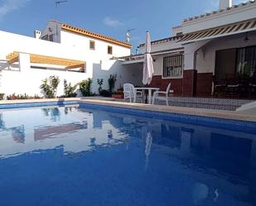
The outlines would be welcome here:
<svg viewBox="0 0 256 206">
<path fill-rule="evenodd" d="M 105 103 L 88 103 L 79 101 L 80 108 L 101 109 L 112 113 L 124 113 L 128 115 L 138 115 L 142 117 L 151 117 L 162 120 L 186 122 L 190 124 L 197 124 L 206 127 L 219 127 L 232 129 L 234 131 L 241 131 L 256 133 L 256 122 L 244 121 L 239 119 L 229 119 L 220 117 L 205 117 L 196 114 L 186 113 L 167 113 L 162 111 L 152 111 L 142 108 L 125 108 L 124 105 L 108 105 Z"/>
</svg>

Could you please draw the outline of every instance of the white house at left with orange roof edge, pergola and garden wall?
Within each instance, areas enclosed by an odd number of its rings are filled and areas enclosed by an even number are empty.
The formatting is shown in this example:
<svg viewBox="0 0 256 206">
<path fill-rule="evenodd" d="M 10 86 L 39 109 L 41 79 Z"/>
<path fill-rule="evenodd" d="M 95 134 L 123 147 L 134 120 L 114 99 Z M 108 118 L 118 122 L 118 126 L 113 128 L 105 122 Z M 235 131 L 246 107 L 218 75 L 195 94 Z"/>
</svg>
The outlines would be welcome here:
<svg viewBox="0 0 256 206">
<path fill-rule="evenodd" d="M 0 31 L 0 45 L 0 93 L 41 95 L 41 81 L 51 75 L 60 77 L 57 95 L 63 94 L 64 79 L 76 84 L 91 78 L 97 92 L 97 79 L 108 89 L 109 74 L 118 74 L 116 89 L 128 79 L 138 84 L 141 76 L 114 60 L 130 55 L 130 44 L 56 21 L 34 37 Z"/>
</svg>

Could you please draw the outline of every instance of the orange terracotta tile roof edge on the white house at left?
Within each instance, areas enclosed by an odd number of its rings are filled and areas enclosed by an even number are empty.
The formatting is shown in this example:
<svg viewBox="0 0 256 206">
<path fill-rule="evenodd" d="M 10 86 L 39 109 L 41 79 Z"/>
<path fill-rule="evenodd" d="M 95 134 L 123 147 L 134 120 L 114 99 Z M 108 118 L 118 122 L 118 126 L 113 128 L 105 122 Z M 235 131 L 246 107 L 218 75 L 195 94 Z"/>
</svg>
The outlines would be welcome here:
<svg viewBox="0 0 256 206">
<path fill-rule="evenodd" d="M 131 44 L 128 44 L 127 42 L 118 41 L 118 40 L 115 40 L 112 37 L 104 36 L 104 35 L 101 35 L 101 34 L 98 34 L 98 33 L 94 33 L 92 31 L 88 31 L 88 30 L 82 29 L 80 27 L 70 26 L 70 25 L 65 24 L 65 23 L 61 23 L 61 29 L 65 30 L 65 31 L 74 32 L 74 33 L 77 33 L 77 34 L 80 34 L 80 35 L 83 35 L 83 36 L 89 36 L 89 37 L 92 37 L 94 39 L 107 41 L 109 43 L 112 43 L 112 44 L 115 44 L 115 45 L 118 45 L 118 46 L 127 47 L 129 49 L 131 49 L 133 47 Z"/>
</svg>

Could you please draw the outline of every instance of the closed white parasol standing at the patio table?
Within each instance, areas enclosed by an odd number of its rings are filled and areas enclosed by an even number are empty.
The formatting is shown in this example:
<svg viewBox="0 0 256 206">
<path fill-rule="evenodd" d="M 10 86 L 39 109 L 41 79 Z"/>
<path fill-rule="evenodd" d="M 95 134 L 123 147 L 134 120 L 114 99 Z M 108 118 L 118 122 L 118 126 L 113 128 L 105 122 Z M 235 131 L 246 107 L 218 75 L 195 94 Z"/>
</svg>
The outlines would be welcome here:
<svg viewBox="0 0 256 206">
<path fill-rule="evenodd" d="M 150 40 L 150 35 L 149 32 L 147 31 L 146 33 L 146 51 L 144 55 L 144 63 L 143 63 L 143 78 L 142 78 L 142 83 L 144 85 L 150 84 L 152 81 L 152 75 L 154 73 L 154 68 L 153 68 L 153 60 L 152 56 L 150 55 L 151 52 L 151 40 Z"/>
</svg>

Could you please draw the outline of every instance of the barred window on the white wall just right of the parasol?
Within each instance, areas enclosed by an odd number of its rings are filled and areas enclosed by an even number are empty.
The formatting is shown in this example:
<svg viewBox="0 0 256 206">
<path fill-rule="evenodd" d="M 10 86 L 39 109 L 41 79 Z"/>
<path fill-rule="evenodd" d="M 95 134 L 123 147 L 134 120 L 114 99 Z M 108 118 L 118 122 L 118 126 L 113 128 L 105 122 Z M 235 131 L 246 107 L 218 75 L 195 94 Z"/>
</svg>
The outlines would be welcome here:
<svg viewBox="0 0 256 206">
<path fill-rule="evenodd" d="M 181 77 L 184 67 L 183 55 L 173 55 L 163 58 L 163 77 Z"/>
</svg>

